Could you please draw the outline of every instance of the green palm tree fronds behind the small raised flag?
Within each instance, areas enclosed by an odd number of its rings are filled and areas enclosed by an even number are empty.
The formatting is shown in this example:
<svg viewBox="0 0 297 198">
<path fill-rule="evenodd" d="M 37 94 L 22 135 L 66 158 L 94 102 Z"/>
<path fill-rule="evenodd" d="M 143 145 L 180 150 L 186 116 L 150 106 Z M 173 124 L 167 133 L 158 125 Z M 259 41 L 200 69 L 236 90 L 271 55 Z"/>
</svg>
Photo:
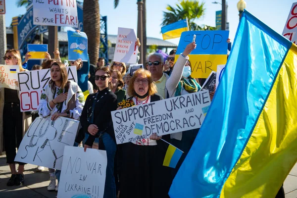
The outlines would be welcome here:
<svg viewBox="0 0 297 198">
<path fill-rule="evenodd" d="M 162 26 L 188 18 L 190 30 L 215 30 L 215 27 L 203 25 L 202 27 L 194 21 L 204 16 L 204 2 L 199 3 L 198 0 L 182 0 L 176 3 L 176 8 L 167 5 L 168 12 L 163 11 Z"/>
</svg>

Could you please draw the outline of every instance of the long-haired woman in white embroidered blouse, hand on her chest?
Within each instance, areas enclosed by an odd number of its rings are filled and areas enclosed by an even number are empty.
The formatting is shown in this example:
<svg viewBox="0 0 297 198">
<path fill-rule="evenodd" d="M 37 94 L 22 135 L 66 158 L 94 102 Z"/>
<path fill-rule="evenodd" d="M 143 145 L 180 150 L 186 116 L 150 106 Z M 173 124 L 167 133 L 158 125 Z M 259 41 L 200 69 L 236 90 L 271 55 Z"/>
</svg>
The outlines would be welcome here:
<svg viewBox="0 0 297 198">
<path fill-rule="evenodd" d="M 85 97 L 77 83 L 68 81 L 65 65 L 61 62 L 53 62 L 50 66 L 50 78 L 49 84 L 41 93 L 38 105 L 39 116 L 50 116 L 51 120 L 56 120 L 59 116 L 78 120 L 85 104 Z M 48 190 L 50 191 L 57 188 L 53 169 L 49 172 Z M 59 173 L 60 171 L 56 171 L 58 181 Z"/>
</svg>

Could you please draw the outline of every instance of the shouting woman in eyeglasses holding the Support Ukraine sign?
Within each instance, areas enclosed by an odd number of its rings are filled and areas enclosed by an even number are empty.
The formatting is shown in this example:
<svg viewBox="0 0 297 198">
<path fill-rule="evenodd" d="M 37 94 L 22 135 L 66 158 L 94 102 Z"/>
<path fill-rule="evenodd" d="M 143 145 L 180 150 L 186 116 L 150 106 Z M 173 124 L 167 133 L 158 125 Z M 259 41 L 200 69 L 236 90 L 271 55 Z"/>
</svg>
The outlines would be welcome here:
<svg viewBox="0 0 297 198">
<path fill-rule="evenodd" d="M 148 70 L 138 69 L 130 80 L 128 93 L 136 105 L 163 99 Z M 120 109 L 121 107 L 119 107 Z M 166 198 L 171 170 L 163 166 L 166 145 L 153 134 L 149 139 L 120 145 L 120 198 Z M 170 136 L 163 136 L 163 139 Z M 168 145 L 167 145 L 168 147 Z"/>
</svg>

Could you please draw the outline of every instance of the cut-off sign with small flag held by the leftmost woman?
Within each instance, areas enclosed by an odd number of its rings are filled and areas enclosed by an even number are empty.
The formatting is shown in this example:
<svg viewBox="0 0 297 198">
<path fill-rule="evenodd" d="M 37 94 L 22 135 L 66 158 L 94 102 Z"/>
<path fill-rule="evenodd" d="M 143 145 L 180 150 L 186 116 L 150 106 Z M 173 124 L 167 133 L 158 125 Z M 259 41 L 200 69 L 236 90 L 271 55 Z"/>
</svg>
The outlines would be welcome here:
<svg viewBox="0 0 297 198">
<path fill-rule="evenodd" d="M 0 88 L 18 90 L 15 81 L 19 71 L 18 65 L 0 65 Z"/>
</svg>

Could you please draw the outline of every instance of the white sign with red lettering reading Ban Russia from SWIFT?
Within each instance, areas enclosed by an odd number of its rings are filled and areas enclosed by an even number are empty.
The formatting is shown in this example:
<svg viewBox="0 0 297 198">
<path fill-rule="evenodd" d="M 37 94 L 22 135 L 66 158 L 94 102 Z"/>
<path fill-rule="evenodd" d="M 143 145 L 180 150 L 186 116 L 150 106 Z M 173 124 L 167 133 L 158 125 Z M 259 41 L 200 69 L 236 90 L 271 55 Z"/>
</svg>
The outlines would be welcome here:
<svg viewBox="0 0 297 198">
<path fill-rule="evenodd" d="M 129 28 L 118 28 L 113 61 L 135 64 L 138 46 L 135 31 Z"/>
</svg>

